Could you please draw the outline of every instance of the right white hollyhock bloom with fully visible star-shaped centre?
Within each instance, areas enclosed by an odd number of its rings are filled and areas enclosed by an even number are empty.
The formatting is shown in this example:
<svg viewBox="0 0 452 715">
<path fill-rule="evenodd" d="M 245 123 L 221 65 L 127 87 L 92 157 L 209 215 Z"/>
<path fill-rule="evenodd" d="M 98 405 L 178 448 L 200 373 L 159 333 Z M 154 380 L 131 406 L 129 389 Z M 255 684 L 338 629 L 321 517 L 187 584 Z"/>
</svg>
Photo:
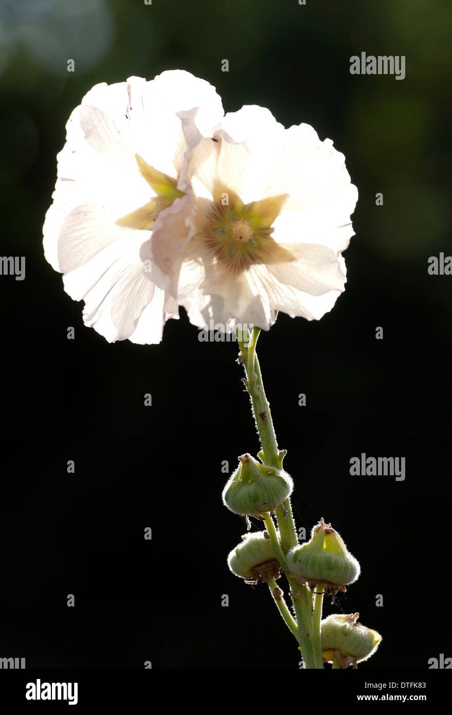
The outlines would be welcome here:
<svg viewBox="0 0 452 715">
<path fill-rule="evenodd" d="M 196 134 L 190 113 L 180 117 L 187 137 Z M 344 290 L 341 252 L 354 235 L 358 191 L 343 154 L 308 124 L 285 129 L 256 106 L 226 114 L 216 142 L 198 139 L 190 241 L 168 248 L 165 262 L 150 245 L 161 285 L 198 327 L 213 319 L 267 330 L 277 310 L 320 319 Z"/>
</svg>

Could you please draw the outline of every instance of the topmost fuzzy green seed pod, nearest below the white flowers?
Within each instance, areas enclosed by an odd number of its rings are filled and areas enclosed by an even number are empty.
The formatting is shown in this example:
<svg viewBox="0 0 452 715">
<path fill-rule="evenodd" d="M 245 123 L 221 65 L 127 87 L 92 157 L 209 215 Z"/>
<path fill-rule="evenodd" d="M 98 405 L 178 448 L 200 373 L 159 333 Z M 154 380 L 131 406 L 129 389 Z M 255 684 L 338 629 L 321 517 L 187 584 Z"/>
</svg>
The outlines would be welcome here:
<svg viewBox="0 0 452 715">
<path fill-rule="evenodd" d="M 223 489 L 223 503 L 235 514 L 260 516 L 288 498 L 293 481 L 283 470 L 266 467 L 249 454 L 240 458 L 237 471 Z"/>
</svg>

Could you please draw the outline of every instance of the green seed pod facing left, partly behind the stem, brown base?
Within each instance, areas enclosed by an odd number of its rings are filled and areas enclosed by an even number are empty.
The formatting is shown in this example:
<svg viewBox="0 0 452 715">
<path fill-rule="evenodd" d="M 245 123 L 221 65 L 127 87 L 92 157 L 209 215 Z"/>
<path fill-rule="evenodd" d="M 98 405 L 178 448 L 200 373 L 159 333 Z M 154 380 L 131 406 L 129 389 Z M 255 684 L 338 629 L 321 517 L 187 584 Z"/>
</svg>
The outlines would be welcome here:
<svg viewBox="0 0 452 715">
<path fill-rule="evenodd" d="M 277 539 L 280 541 L 279 532 Z M 235 576 L 252 583 L 280 577 L 280 562 L 266 531 L 242 536 L 242 543 L 233 548 L 227 557 L 227 565 Z"/>
</svg>

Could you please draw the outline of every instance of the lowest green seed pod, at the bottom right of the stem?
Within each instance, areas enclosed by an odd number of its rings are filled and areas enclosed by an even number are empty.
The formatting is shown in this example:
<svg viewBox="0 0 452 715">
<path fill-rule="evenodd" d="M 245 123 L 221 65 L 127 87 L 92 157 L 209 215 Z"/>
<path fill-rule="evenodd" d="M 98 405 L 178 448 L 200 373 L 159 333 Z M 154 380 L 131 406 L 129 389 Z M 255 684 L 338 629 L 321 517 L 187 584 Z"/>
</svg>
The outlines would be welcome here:
<svg viewBox="0 0 452 715">
<path fill-rule="evenodd" d="M 320 623 L 323 660 L 339 661 L 341 668 L 366 661 L 375 653 L 381 641 L 380 633 L 358 623 L 359 613 L 349 616 L 334 613 Z"/>
</svg>

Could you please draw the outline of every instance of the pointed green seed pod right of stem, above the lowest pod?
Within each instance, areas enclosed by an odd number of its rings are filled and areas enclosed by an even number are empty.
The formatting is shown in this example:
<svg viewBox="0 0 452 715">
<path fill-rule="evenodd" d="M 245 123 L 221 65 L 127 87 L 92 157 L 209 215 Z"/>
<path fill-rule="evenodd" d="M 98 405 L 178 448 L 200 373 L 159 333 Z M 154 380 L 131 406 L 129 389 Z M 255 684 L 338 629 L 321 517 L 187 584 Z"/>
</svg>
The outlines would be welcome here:
<svg viewBox="0 0 452 715">
<path fill-rule="evenodd" d="M 298 583 L 308 583 L 311 590 L 317 583 L 325 584 L 325 593 L 334 596 L 345 591 L 345 584 L 353 583 L 360 575 L 358 561 L 347 551 L 337 531 L 320 519 L 311 539 L 289 551 L 288 568 Z"/>
</svg>

